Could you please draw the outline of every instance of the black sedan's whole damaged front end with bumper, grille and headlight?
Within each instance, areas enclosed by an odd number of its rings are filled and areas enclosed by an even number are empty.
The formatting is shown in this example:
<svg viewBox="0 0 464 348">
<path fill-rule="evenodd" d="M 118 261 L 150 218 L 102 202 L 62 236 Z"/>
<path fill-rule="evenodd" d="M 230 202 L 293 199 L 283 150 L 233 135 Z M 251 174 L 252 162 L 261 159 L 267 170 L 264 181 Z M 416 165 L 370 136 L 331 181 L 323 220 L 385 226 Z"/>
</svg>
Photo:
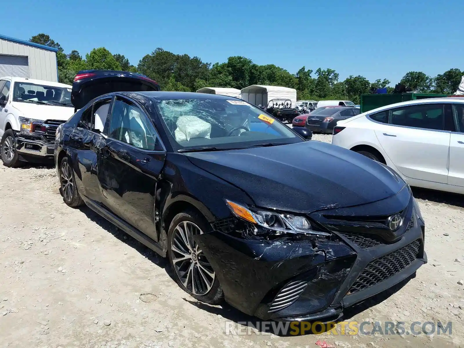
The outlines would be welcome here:
<svg viewBox="0 0 464 348">
<path fill-rule="evenodd" d="M 336 320 L 426 263 L 425 226 L 408 187 L 363 206 L 298 216 L 226 204 L 232 216 L 196 238 L 226 301 L 263 320 Z M 402 221 L 394 232 L 385 225 L 392 214 Z"/>
</svg>

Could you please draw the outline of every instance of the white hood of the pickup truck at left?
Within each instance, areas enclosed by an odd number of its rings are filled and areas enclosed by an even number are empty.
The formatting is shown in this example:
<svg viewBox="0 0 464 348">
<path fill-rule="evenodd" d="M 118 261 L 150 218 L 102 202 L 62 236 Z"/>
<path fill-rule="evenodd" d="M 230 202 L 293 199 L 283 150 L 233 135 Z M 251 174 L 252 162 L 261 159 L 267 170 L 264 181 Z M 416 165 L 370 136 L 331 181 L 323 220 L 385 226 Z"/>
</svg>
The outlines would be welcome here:
<svg viewBox="0 0 464 348">
<path fill-rule="evenodd" d="M 59 105 L 43 105 L 36 103 L 12 102 L 13 108 L 21 111 L 23 117 L 35 120 L 67 121 L 74 114 L 74 108 Z"/>
</svg>

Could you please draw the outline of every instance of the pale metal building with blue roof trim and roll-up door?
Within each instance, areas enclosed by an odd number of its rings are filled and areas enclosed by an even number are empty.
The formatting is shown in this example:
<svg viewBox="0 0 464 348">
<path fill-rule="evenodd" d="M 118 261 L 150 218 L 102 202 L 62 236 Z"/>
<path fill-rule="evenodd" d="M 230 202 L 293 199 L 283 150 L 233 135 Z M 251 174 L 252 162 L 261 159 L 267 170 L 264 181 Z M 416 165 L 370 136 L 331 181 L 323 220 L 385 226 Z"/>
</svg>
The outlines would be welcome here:
<svg viewBox="0 0 464 348">
<path fill-rule="evenodd" d="M 0 77 L 58 82 L 58 49 L 0 34 Z"/>
</svg>

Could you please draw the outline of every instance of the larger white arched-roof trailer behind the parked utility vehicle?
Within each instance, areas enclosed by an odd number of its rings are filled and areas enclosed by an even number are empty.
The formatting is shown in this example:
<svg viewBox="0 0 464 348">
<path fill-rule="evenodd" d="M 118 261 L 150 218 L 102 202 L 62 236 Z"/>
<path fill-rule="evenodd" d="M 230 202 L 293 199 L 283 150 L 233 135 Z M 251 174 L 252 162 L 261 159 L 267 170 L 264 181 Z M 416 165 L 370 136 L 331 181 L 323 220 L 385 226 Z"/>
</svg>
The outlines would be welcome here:
<svg viewBox="0 0 464 348">
<path fill-rule="evenodd" d="M 293 88 L 252 84 L 242 89 L 242 99 L 257 106 L 267 106 L 270 100 L 277 98 L 290 99 L 292 107 L 296 106 L 296 90 Z"/>
</svg>

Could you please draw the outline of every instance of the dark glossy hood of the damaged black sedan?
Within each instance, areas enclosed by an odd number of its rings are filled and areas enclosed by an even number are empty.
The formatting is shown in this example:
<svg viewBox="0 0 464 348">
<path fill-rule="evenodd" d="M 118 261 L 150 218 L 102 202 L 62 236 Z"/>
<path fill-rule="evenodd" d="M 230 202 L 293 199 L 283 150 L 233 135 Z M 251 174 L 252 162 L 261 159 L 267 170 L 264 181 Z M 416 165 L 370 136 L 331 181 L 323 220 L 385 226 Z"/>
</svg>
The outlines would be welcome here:
<svg viewBox="0 0 464 348">
<path fill-rule="evenodd" d="M 406 185 L 380 163 L 317 141 L 186 155 L 241 188 L 257 206 L 290 212 L 371 203 Z"/>
</svg>

